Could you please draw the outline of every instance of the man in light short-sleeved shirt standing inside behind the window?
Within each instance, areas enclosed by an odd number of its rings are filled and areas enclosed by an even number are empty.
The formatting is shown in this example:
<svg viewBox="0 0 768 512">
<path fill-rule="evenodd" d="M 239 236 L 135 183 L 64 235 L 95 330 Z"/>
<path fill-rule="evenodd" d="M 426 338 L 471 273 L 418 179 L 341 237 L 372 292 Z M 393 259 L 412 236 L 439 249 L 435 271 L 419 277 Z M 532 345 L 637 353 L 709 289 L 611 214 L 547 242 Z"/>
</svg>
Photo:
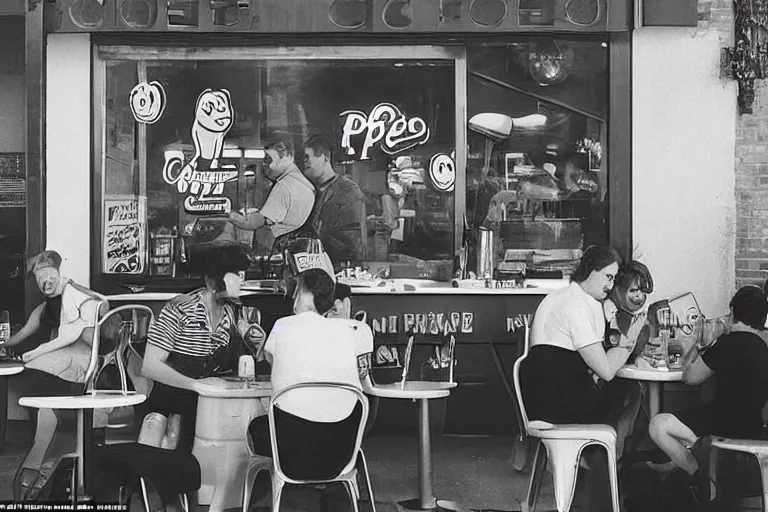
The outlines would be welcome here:
<svg viewBox="0 0 768 512">
<path fill-rule="evenodd" d="M 270 249 L 274 240 L 295 231 L 309 218 L 315 202 L 315 188 L 296 167 L 293 147 L 276 140 L 265 147 L 264 175 L 273 182 L 264 206 L 259 211 L 229 214 L 229 221 L 240 229 L 254 231 L 254 247 Z M 263 228 L 269 228 L 268 231 Z M 266 231 L 267 236 L 263 236 Z"/>
</svg>

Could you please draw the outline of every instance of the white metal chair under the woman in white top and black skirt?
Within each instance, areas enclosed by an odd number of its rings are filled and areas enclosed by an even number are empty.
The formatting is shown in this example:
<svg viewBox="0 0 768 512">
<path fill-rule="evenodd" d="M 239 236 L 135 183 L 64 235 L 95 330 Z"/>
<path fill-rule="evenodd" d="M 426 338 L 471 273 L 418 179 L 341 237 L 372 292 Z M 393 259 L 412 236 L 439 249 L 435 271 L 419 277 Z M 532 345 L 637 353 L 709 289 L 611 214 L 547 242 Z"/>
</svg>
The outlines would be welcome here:
<svg viewBox="0 0 768 512">
<path fill-rule="evenodd" d="M 541 479 L 547 457 L 552 461 L 552 477 L 555 487 L 555 503 L 558 512 L 568 512 L 576 490 L 576 477 L 581 452 L 590 445 L 600 445 L 608 452 L 608 470 L 611 484 L 613 510 L 619 512 L 619 479 L 616 456 L 616 431 L 609 425 L 553 424 L 528 419 L 520 388 L 520 366 L 530 350 L 530 323 L 525 321 L 525 350 L 515 361 L 513 378 L 517 402 L 523 417 L 526 433 L 539 439 L 528 483 L 528 495 L 523 503 L 524 512 L 533 512 L 538 499 Z"/>
</svg>

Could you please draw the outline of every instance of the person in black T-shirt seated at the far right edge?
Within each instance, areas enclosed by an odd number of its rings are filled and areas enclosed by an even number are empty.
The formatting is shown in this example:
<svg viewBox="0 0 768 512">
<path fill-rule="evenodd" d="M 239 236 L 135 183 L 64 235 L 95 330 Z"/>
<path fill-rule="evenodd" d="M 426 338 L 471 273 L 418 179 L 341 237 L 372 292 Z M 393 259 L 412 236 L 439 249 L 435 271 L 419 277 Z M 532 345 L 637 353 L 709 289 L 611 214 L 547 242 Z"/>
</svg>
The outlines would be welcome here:
<svg viewBox="0 0 768 512">
<path fill-rule="evenodd" d="M 679 468 L 677 474 L 699 501 L 709 496 L 709 484 L 689 447 L 702 436 L 757 438 L 763 428 L 762 408 L 768 399 L 768 345 L 760 332 L 768 303 L 756 286 L 739 289 L 730 303 L 731 328 L 711 346 L 684 347 L 683 382 L 699 385 L 717 376 L 715 398 L 681 413 L 651 419 L 651 439 Z"/>
</svg>

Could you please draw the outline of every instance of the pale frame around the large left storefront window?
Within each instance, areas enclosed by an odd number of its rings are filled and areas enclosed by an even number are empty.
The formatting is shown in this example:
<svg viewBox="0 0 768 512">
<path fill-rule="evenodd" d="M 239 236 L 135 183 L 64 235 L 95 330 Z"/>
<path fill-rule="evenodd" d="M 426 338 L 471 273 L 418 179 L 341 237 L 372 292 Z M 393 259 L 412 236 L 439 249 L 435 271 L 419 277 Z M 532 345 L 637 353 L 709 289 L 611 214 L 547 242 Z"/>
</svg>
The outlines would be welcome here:
<svg viewBox="0 0 768 512">
<path fill-rule="evenodd" d="M 91 281 L 95 289 L 123 289 L 141 287 L 147 282 L 157 282 L 161 288 L 184 289 L 183 278 L 158 278 L 142 274 L 109 274 L 103 271 L 103 214 L 106 162 L 106 80 L 110 61 L 135 61 L 139 82 L 147 79 L 147 62 L 168 60 L 446 60 L 454 66 L 454 138 L 456 182 L 454 187 L 454 238 L 455 249 L 461 245 L 463 218 L 466 211 L 466 163 L 467 163 L 467 55 L 463 45 L 377 45 L 377 46 L 148 46 L 124 44 L 93 45 L 92 84 L 92 143 L 93 160 L 92 215 L 91 215 Z M 139 161 L 139 196 L 146 196 L 147 125 L 137 123 L 137 149 Z M 148 247 L 147 247 L 148 250 Z M 145 263 L 145 272 L 148 262 Z M 179 283 L 170 286 L 171 282 Z M 154 287 L 153 287 L 154 288 Z M 186 286 L 190 288 L 190 286 Z"/>
</svg>

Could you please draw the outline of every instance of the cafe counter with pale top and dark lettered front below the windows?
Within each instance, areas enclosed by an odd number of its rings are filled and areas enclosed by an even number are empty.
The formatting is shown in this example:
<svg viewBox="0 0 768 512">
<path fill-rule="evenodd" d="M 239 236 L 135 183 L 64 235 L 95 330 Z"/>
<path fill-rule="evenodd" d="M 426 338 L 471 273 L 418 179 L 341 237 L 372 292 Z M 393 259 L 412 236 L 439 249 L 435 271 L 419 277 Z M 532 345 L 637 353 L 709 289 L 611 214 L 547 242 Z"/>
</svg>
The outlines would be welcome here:
<svg viewBox="0 0 768 512">
<path fill-rule="evenodd" d="M 458 386 L 450 397 L 432 401 L 433 428 L 446 434 L 514 435 L 518 421 L 512 365 L 522 348 L 525 319 L 532 318 L 547 293 L 566 286 L 567 281 L 540 280 L 525 285 L 454 287 L 437 281 L 393 279 L 376 286 L 353 286 L 352 312 L 364 311 L 374 333 L 374 381 L 385 384 L 401 378 L 411 335 L 415 344 L 409 378 L 441 378 L 430 363 L 435 360 L 440 340 L 452 335 L 456 340 L 454 378 Z M 278 318 L 290 314 L 291 304 L 274 288 L 254 288 L 244 288 L 242 301 L 261 311 L 263 326 L 269 332 Z M 132 293 L 108 298 L 113 304 L 149 304 L 158 313 L 174 295 Z M 414 407 L 407 401 L 381 401 L 375 429 L 415 431 Z"/>
</svg>

